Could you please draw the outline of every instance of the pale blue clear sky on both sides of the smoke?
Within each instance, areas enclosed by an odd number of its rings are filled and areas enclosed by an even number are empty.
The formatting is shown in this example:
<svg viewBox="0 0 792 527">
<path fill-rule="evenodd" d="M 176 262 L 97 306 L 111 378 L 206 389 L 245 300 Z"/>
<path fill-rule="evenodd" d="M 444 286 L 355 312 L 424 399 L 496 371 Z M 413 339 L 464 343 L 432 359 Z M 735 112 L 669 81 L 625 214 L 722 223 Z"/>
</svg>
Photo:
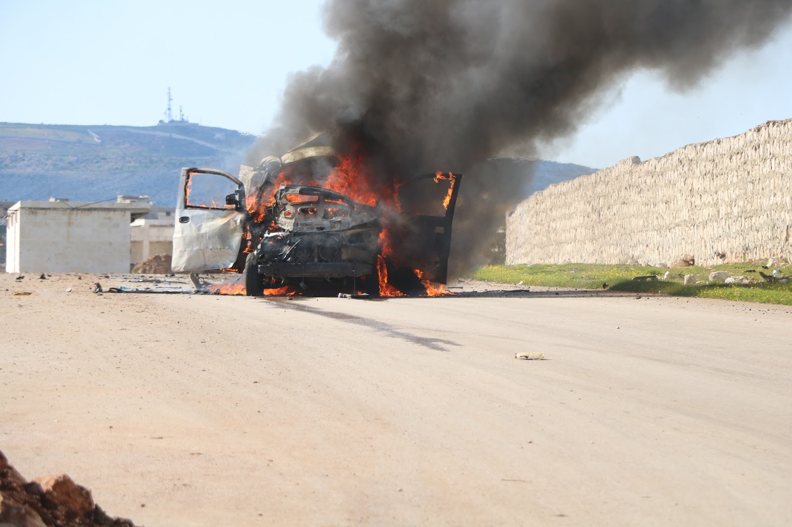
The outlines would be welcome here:
<svg viewBox="0 0 792 527">
<path fill-rule="evenodd" d="M 290 72 L 333 57 L 320 0 L 0 0 L 0 121 L 148 126 L 173 111 L 261 132 Z M 541 157 L 604 167 L 792 117 L 792 27 L 687 93 L 622 79 L 577 134 Z"/>
</svg>

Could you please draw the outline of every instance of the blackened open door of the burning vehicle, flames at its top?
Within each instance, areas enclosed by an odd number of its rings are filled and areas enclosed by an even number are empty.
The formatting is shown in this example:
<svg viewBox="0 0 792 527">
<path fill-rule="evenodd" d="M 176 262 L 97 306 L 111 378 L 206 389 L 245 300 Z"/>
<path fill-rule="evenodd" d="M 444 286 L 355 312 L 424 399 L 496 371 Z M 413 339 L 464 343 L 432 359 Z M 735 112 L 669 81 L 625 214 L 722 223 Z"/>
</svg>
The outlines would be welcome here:
<svg viewBox="0 0 792 527">
<path fill-rule="evenodd" d="M 420 269 L 421 279 L 447 282 L 451 223 L 461 181 L 462 174 L 425 174 L 399 187 L 399 203 L 405 216 L 394 264 Z"/>
</svg>

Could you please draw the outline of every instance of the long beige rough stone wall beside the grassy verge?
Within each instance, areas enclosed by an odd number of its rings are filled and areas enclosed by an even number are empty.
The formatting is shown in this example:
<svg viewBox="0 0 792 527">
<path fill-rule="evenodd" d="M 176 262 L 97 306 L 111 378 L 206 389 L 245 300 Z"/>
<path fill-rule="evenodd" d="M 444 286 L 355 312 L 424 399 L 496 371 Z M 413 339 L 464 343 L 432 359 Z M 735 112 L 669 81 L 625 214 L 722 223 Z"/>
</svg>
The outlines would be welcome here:
<svg viewBox="0 0 792 527">
<path fill-rule="evenodd" d="M 506 218 L 507 264 L 792 257 L 792 119 L 539 191 Z M 725 255 L 725 257 L 722 257 Z"/>
</svg>

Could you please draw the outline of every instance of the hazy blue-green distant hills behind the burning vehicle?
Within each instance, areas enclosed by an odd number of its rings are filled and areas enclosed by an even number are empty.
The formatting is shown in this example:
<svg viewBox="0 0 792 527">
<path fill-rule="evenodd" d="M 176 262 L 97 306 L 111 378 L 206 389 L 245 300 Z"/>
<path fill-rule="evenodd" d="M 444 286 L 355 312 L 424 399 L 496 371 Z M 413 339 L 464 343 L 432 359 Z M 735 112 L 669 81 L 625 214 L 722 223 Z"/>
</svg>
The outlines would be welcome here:
<svg viewBox="0 0 792 527">
<path fill-rule="evenodd" d="M 0 200 L 74 201 L 148 195 L 176 203 L 181 167 L 210 166 L 236 174 L 256 137 L 186 121 L 153 127 L 0 123 Z M 531 184 L 523 197 L 594 169 L 553 161 L 500 158 L 487 172 L 505 170 Z"/>
</svg>

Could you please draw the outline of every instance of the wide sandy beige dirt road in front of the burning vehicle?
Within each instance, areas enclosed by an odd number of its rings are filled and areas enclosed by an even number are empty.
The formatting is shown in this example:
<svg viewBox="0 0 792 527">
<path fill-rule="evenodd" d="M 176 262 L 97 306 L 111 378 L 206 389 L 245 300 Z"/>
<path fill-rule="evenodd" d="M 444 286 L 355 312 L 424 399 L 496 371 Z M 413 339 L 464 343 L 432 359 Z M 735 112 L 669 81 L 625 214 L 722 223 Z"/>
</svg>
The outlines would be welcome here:
<svg viewBox="0 0 792 527">
<path fill-rule="evenodd" d="M 89 276 L 15 276 L 0 450 L 138 524 L 792 518 L 790 308 L 100 296 Z"/>
</svg>

